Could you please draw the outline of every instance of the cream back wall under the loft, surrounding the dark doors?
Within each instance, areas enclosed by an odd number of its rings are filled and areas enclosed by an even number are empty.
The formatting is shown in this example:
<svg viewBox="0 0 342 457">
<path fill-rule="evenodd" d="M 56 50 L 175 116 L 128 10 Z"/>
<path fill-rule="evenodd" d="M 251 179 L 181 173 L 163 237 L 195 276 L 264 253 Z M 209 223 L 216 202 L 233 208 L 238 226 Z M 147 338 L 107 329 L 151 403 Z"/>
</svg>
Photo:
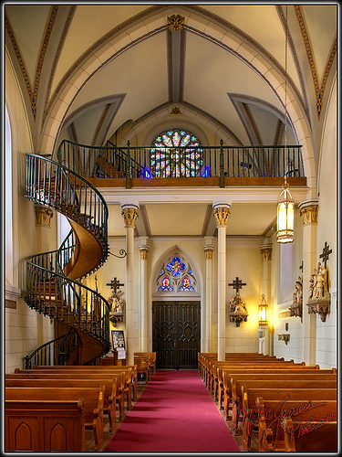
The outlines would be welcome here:
<svg viewBox="0 0 342 457">
<path fill-rule="evenodd" d="M 181 255 L 191 263 L 192 269 L 197 272 L 198 292 L 200 296 L 194 297 L 195 300 L 201 301 L 201 345 L 205 338 L 205 256 L 203 247 L 205 239 L 202 238 L 170 238 L 170 239 L 135 239 L 135 286 L 134 286 L 134 350 L 140 351 L 140 328 L 141 328 L 141 310 L 140 310 L 140 251 L 141 244 L 149 246 L 147 257 L 147 283 L 148 283 L 148 341 L 152 349 L 152 315 L 151 308 L 153 302 L 153 292 L 155 292 L 154 279 L 160 268 L 162 260 L 165 260 L 173 250 L 179 250 Z M 258 305 L 263 293 L 263 263 L 260 246 L 262 239 L 255 239 L 252 243 L 250 240 L 227 240 L 227 290 L 226 290 L 226 351 L 227 352 L 258 352 Z M 212 239 L 212 308 L 213 308 L 213 351 L 217 350 L 217 240 Z M 125 249 L 126 240 L 124 237 L 110 237 L 109 249 L 115 254 L 119 254 L 120 249 Z M 87 285 L 94 287 L 95 274 L 88 277 Z M 105 265 L 96 272 L 98 277 L 98 292 L 106 299 L 111 294 L 108 282 L 117 277 L 120 282 L 126 282 L 126 260 L 120 260 L 109 255 Z M 240 290 L 243 300 L 246 302 L 249 313 L 247 322 L 236 324 L 229 322 L 229 301 L 235 294 L 228 282 L 232 282 L 236 276 L 246 282 L 247 285 Z M 120 287 L 123 292 L 121 297 L 125 300 L 125 285 Z M 182 297 L 184 299 L 184 297 Z M 174 298 L 171 298 L 173 300 Z M 158 298 L 154 297 L 154 300 Z M 125 330 L 125 323 L 117 324 L 117 330 Z M 110 330 L 114 327 L 110 324 Z"/>
</svg>

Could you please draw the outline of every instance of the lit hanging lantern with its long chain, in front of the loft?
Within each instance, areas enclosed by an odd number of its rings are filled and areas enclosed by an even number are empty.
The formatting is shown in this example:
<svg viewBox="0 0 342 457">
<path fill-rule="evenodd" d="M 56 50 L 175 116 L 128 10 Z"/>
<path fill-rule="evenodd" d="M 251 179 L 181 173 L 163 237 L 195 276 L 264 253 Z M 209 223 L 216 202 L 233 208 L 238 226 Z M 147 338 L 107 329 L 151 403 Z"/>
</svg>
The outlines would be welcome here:
<svg viewBox="0 0 342 457">
<path fill-rule="evenodd" d="M 286 125 L 287 125 L 287 5 L 285 20 L 285 151 L 287 145 Z M 284 152 L 285 152 L 284 151 Z M 278 243 L 292 243 L 295 240 L 294 220 L 295 220 L 295 199 L 289 191 L 289 186 L 284 176 L 283 190 L 278 198 L 277 205 L 277 233 L 276 240 Z"/>
</svg>

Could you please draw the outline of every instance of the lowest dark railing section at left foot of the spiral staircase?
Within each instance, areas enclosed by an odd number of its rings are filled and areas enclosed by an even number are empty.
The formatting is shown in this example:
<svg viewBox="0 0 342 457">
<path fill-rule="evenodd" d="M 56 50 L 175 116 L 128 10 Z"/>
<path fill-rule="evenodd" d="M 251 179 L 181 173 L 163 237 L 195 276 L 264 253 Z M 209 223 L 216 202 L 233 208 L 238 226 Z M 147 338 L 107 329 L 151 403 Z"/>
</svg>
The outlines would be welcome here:
<svg viewBox="0 0 342 457">
<path fill-rule="evenodd" d="M 73 328 L 66 335 L 58 336 L 40 345 L 29 356 L 24 357 L 24 369 L 35 365 L 67 365 L 67 360 L 76 347 L 77 334 Z"/>
</svg>

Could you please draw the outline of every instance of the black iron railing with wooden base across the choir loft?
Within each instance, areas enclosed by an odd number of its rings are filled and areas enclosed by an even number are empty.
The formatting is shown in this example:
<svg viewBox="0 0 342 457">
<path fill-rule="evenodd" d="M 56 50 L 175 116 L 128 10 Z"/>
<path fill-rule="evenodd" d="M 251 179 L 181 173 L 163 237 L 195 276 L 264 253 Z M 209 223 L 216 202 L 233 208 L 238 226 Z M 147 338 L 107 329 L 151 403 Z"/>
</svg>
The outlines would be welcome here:
<svg viewBox="0 0 342 457">
<path fill-rule="evenodd" d="M 306 186 L 300 145 L 97 147 L 64 140 L 57 161 L 96 187 Z"/>
</svg>

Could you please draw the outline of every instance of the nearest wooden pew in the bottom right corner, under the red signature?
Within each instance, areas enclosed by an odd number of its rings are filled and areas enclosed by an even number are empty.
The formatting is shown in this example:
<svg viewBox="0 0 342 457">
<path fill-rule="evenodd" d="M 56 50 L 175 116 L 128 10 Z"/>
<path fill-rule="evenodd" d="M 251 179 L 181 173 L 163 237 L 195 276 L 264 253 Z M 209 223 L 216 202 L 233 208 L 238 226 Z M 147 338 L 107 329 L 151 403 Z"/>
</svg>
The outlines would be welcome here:
<svg viewBox="0 0 342 457">
<path fill-rule="evenodd" d="M 285 452 L 337 452 L 337 421 L 282 420 Z"/>
</svg>

